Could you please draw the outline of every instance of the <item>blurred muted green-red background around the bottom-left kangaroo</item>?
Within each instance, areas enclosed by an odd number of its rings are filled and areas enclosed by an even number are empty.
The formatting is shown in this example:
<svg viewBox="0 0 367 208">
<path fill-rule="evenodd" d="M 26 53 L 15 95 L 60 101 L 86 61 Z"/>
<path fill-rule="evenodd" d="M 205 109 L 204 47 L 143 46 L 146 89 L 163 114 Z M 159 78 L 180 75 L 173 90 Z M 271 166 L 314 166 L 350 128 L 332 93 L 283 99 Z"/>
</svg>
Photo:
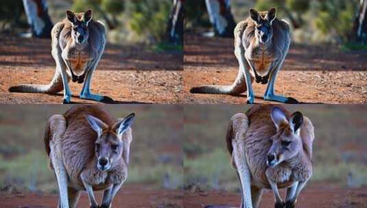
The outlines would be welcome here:
<svg viewBox="0 0 367 208">
<path fill-rule="evenodd" d="M 135 112 L 126 185 L 147 189 L 182 187 L 182 107 L 178 105 L 104 105 L 115 118 Z M 43 143 L 50 116 L 62 105 L 1 105 L 0 191 L 56 193 Z"/>
</svg>

